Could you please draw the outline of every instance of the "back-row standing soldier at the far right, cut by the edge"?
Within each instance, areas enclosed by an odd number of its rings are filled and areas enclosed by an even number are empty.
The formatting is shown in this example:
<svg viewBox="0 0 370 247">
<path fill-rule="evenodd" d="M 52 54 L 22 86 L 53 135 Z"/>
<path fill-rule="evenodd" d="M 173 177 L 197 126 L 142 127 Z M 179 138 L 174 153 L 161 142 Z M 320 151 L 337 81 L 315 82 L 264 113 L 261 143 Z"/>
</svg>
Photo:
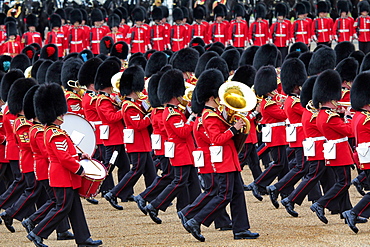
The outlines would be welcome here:
<svg viewBox="0 0 370 247">
<path fill-rule="evenodd" d="M 358 9 L 361 15 L 354 23 L 355 37 L 358 39 L 359 49 L 367 54 L 370 52 L 370 5 L 367 1 L 361 1 L 358 3 Z"/>
</svg>

